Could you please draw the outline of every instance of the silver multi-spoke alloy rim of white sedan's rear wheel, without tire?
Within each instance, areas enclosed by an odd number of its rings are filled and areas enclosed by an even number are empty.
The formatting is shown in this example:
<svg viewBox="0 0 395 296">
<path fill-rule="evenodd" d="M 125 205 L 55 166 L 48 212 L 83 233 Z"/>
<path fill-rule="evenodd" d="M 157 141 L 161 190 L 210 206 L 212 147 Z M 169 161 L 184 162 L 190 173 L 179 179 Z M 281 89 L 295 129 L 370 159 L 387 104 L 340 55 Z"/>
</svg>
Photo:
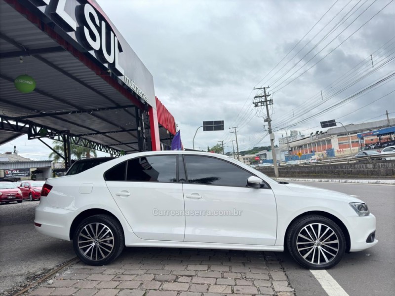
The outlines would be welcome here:
<svg viewBox="0 0 395 296">
<path fill-rule="evenodd" d="M 81 255 L 97 261 L 110 256 L 115 240 L 111 229 L 99 222 L 86 224 L 78 235 L 78 248 Z"/>
</svg>

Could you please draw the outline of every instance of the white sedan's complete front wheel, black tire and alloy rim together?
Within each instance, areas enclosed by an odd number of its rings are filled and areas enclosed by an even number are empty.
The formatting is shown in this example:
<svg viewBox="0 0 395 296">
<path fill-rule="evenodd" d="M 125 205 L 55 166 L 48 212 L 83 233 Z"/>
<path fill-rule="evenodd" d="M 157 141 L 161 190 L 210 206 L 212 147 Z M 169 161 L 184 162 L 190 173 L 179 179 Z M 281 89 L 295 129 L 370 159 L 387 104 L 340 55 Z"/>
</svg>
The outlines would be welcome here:
<svg viewBox="0 0 395 296">
<path fill-rule="evenodd" d="M 287 234 L 291 256 L 303 267 L 327 269 L 335 266 L 346 252 L 346 239 L 332 220 L 318 215 L 300 217 Z"/>
</svg>

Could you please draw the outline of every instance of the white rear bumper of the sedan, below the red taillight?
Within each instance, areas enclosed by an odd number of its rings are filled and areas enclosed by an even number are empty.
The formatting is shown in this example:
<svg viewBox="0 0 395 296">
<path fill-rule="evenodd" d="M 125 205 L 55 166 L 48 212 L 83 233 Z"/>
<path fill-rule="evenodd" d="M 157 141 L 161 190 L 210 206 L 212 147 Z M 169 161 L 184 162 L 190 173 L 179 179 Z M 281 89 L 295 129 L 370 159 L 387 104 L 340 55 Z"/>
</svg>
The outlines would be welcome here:
<svg viewBox="0 0 395 296">
<path fill-rule="evenodd" d="M 46 197 L 41 197 L 36 207 L 35 228 L 42 234 L 69 241 L 70 227 L 78 214 L 76 211 L 52 207 Z"/>
</svg>

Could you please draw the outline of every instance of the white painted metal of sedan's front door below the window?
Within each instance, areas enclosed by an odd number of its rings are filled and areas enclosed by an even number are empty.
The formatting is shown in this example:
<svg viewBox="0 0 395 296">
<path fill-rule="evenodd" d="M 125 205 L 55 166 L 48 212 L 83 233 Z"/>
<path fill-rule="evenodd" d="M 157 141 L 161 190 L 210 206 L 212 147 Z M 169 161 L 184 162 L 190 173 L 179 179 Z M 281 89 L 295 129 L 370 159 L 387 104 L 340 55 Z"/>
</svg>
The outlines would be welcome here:
<svg viewBox="0 0 395 296">
<path fill-rule="evenodd" d="M 184 184 L 185 241 L 274 245 L 276 200 L 271 189 Z"/>
</svg>

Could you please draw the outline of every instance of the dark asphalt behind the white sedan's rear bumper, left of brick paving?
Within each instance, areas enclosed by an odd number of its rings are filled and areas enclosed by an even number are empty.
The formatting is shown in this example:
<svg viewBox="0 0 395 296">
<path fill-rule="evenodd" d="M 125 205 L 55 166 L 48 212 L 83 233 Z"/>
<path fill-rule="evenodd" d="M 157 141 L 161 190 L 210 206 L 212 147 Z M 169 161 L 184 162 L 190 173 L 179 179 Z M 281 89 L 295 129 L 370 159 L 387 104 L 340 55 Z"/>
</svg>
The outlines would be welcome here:
<svg viewBox="0 0 395 296">
<path fill-rule="evenodd" d="M 0 294 L 76 257 L 71 242 L 34 229 L 39 201 L 0 204 Z"/>
</svg>

